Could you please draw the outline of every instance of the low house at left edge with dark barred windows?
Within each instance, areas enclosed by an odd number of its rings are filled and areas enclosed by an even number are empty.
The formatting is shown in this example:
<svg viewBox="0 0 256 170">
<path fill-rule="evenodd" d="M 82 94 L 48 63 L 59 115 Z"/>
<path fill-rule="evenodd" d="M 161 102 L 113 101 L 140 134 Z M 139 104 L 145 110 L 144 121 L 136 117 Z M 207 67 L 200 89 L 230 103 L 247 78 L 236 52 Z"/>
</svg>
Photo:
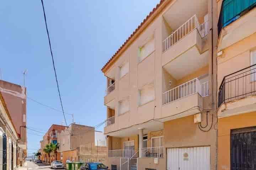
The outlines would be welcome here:
<svg viewBox="0 0 256 170">
<path fill-rule="evenodd" d="M 18 132 L 0 91 L 0 169 L 17 169 Z"/>
</svg>

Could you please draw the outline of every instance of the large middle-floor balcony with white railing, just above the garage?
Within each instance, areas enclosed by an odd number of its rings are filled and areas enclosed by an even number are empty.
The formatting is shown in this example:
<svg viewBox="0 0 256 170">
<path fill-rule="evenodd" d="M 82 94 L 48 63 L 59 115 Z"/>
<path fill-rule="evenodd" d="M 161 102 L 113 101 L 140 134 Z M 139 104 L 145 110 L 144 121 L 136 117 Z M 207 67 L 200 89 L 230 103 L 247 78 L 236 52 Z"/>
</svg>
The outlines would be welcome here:
<svg viewBox="0 0 256 170">
<path fill-rule="evenodd" d="M 201 83 L 198 78 L 174 87 L 162 94 L 162 116 L 170 117 L 167 121 L 199 113 L 202 97 L 208 95 L 209 81 Z"/>
</svg>

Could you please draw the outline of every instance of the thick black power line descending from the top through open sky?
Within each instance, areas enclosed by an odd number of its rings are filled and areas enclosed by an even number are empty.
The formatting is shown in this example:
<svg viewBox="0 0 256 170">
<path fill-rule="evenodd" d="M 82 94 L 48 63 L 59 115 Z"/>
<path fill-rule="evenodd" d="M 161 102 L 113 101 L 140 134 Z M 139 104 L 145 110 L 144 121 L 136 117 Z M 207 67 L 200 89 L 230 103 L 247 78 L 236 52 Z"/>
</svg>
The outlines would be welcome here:
<svg viewBox="0 0 256 170">
<path fill-rule="evenodd" d="M 41 0 L 41 2 L 42 2 L 42 6 L 43 6 L 44 22 L 45 22 L 45 25 L 46 25 L 46 31 L 47 31 L 48 41 L 49 41 L 49 46 L 50 46 L 50 52 L 51 52 L 51 55 L 52 55 L 53 69 L 54 69 L 54 73 L 55 73 L 55 80 L 56 80 L 57 87 L 58 87 L 59 98 L 60 98 L 60 104 L 61 104 L 61 106 L 62 106 L 62 112 L 63 112 L 63 116 L 64 116 L 64 120 L 65 120 L 66 126 L 68 126 L 68 124 L 67 124 L 67 122 L 66 122 L 66 117 L 65 117 L 65 114 L 64 114 L 63 105 L 62 105 L 62 99 L 61 99 L 61 96 L 60 96 L 59 83 L 58 83 L 57 74 L 56 74 L 56 69 L 55 69 L 55 65 L 54 65 L 54 59 L 53 59 L 53 53 L 52 53 L 52 46 L 51 46 L 51 44 L 50 44 L 50 36 L 49 36 L 48 27 L 47 27 L 47 22 L 46 22 L 46 15 L 45 15 L 45 11 L 44 11 L 43 0 Z"/>
</svg>

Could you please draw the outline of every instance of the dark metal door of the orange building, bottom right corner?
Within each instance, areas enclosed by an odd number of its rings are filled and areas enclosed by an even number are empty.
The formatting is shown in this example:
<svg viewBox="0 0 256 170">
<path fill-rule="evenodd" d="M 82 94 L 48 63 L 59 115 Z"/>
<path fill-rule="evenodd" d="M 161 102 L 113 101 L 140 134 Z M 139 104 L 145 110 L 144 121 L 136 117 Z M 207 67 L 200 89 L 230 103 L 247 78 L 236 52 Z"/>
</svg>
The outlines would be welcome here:
<svg viewBox="0 0 256 170">
<path fill-rule="evenodd" d="M 256 169 L 256 127 L 231 131 L 231 170 Z"/>
</svg>

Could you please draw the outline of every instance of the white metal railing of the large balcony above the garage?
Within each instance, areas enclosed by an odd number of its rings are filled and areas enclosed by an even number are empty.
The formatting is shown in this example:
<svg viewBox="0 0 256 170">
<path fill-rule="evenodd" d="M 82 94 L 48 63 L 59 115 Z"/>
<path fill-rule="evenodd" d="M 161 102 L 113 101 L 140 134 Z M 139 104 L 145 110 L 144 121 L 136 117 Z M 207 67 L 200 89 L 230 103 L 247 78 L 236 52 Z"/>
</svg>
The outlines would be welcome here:
<svg viewBox="0 0 256 170">
<path fill-rule="evenodd" d="M 198 78 L 195 78 L 164 92 L 162 94 L 163 105 L 195 93 L 199 93 L 202 97 L 208 96 L 209 86 L 207 82 L 201 84 Z"/>
</svg>

